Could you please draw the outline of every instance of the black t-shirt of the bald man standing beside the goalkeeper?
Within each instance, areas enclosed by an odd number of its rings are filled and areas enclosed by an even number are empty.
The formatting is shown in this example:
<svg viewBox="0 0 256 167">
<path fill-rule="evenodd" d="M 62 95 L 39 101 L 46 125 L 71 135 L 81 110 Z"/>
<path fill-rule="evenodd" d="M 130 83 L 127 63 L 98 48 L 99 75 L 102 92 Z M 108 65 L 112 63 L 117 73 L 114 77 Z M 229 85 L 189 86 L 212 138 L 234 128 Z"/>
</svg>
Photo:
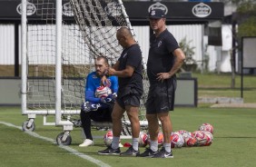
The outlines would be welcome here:
<svg viewBox="0 0 256 167">
<path fill-rule="evenodd" d="M 118 77 L 119 89 L 118 96 L 123 97 L 129 93 L 143 94 L 143 72 L 142 63 L 143 55 L 138 44 L 133 44 L 128 48 L 123 49 L 119 57 L 119 71 L 126 68 L 126 65 L 133 66 L 134 72 L 131 77 Z"/>
</svg>

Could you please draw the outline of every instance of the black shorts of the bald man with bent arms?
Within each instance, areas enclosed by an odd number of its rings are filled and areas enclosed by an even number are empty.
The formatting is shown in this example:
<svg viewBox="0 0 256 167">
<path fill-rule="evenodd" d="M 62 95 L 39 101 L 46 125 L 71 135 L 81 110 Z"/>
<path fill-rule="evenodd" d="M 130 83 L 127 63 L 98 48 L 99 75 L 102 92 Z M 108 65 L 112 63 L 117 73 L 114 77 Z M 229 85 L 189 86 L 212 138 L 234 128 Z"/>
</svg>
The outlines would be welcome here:
<svg viewBox="0 0 256 167">
<path fill-rule="evenodd" d="M 121 98 L 116 98 L 116 102 L 123 108 L 125 109 L 125 106 L 127 105 L 132 105 L 132 106 L 135 106 L 135 107 L 140 107 L 140 99 L 141 99 L 141 95 L 139 94 L 127 94 L 127 95 L 124 95 L 123 97 Z"/>
</svg>

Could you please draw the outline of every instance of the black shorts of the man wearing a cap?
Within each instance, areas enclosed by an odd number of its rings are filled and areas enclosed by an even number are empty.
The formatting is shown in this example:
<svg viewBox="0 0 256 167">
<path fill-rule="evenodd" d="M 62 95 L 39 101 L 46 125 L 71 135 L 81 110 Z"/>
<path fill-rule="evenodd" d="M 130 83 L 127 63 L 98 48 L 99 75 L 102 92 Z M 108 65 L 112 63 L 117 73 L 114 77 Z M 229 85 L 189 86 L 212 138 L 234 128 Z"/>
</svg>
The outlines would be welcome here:
<svg viewBox="0 0 256 167">
<path fill-rule="evenodd" d="M 146 113 L 173 111 L 176 79 L 164 80 L 150 86 L 146 102 Z"/>
</svg>

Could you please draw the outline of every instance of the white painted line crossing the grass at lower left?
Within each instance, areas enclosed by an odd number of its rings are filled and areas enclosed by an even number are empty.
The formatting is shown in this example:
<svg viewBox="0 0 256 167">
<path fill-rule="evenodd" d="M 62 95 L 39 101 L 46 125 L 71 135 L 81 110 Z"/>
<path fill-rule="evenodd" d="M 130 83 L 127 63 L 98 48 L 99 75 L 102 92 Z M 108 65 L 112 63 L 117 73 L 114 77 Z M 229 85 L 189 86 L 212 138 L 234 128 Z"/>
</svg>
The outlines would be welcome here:
<svg viewBox="0 0 256 167">
<path fill-rule="evenodd" d="M 22 131 L 22 127 L 21 126 L 16 126 L 15 124 L 12 124 L 12 123 L 5 123 L 5 122 L 0 122 L 1 124 L 5 124 L 6 126 L 9 126 L 9 127 L 14 127 L 14 128 L 17 128 L 19 130 Z M 34 133 L 34 132 L 29 132 L 29 131 L 26 131 L 25 133 L 28 133 L 29 135 L 33 136 L 33 137 L 36 137 L 38 139 L 42 139 L 44 141 L 47 141 L 47 142 L 53 142 L 54 144 L 56 144 L 56 142 L 54 141 L 54 139 L 51 139 L 51 138 L 48 138 L 48 137 L 44 137 L 44 136 L 41 136 L 37 133 Z M 73 148 L 69 147 L 69 146 L 65 146 L 65 145 L 58 145 L 58 147 L 66 150 L 67 152 L 71 152 L 72 154 L 76 155 L 76 156 L 79 156 L 81 158 L 83 158 L 84 160 L 87 160 L 87 161 L 90 161 L 90 162 L 93 162 L 95 164 L 97 164 L 98 166 L 103 166 L 103 167 L 110 167 L 109 164 L 106 164 L 104 162 L 101 162 L 99 160 L 96 160 L 94 159 L 93 157 L 91 156 L 88 156 L 86 154 L 84 154 L 83 152 L 78 152 L 76 150 L 74 150 Z"/>
</svg>

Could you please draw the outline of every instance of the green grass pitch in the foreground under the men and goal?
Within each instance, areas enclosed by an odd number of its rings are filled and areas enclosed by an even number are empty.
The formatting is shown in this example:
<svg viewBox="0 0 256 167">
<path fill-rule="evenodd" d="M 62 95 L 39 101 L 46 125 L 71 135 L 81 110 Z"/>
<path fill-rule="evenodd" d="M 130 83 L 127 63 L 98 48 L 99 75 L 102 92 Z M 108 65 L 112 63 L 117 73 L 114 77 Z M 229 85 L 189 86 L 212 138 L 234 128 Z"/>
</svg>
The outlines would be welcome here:
<svg viewBox="0 0 256 167">
<path fill-rule="evenodd" d="M 173 159 L 150 159 L 138 157 L 119 157 L 98 155 L 105 148 L 102 139 L 95 145 L 80 148 L 81 129 L 72 131 L 71 152 L 53 142 L 35 138 L 15 127 L 26 120 L 19 107 L 0 107 L 0 166 L 255 166 L 256 159 L 256 111 L 255 109 L 216 109 L 199 106 L 198 108 L 176 108 L 172 113 L 173 131 L 193 132 L 202 123 L 212 123 L 214 140 L 211 146 L 173 149 Z M 44 126 L 43 117 L 36 116 L 34 133 L 55 140 L 62 133 L 62 127 Z M 94 130 L 94 135 L 103 135 L 103 131 Z M 129 142 L 129 141 L 122 141 Z M 122 148 L 122 151 L 126 148 Z M 144 148 L 140 148 L 143 152 Z M 94 158 L 100 162 L 90 162 L 76 154 Z M 87 157 L 88 158 L 88 157 Z M 104 166 L 102 165 L 102 166 Z"/>
</svg>

